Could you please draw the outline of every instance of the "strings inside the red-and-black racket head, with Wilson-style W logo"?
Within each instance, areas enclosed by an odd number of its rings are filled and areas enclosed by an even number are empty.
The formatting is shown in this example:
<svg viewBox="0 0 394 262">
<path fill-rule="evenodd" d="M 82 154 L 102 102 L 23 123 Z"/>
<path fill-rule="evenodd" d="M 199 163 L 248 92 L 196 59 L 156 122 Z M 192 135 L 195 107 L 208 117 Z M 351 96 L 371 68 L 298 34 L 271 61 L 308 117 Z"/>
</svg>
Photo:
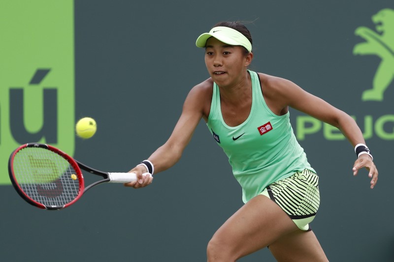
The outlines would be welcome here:
<svg viewBox="0 0 394 262">
<path fill-rule="evenodd" d="M 80 175 L 56 152 L 26 147 L 15 154 L 14 175 L 24 193 L 46 206 L 62 206 L 80 193 Z"/>
</svg>

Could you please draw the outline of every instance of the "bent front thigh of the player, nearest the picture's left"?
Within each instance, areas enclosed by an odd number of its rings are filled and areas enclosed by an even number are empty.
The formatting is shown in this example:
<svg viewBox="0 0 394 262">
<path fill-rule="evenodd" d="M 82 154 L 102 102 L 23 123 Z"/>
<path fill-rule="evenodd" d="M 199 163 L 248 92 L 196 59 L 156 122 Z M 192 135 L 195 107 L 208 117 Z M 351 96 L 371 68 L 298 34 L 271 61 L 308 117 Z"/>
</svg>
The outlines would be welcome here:
<svg viewBox="0 0 394 262">
<path fill-rule="evenodd" d="M 210 250 L 215 251 L 212 253 L 227 254 L 229 259 L 237 259 L 296 230 L 296 225 L 277 204 L 258 195 L 219 228 L 210 241 L 214 247 Z"/>
</svg>

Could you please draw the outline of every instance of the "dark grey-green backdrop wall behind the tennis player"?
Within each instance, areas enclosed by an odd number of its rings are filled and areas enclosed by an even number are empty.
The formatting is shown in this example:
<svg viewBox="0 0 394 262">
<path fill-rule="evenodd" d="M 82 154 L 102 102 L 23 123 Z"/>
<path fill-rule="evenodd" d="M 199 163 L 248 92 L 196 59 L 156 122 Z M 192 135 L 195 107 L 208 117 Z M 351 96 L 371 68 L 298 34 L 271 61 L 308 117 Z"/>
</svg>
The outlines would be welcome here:
<svg viewBox="0 0 394 262">
<path fill-rule="evenodd" d="M 94 117 L 98 131 L 76 138 L 74 157 L 122 172 L 162 145 L 191 87 L 208 78 L 195 40 L 223 20 L 252 21 L 252 70 L 292 80 L 364 130 L 364 116 L 375 123 L 394 114 L 394 83 L 383 101 L 361 101 L 380 58 L 352 54 L 364 41 L 355 29 L 375 30 L 371 16 L 383 8 L 393 1 L 75 1 L 75 119 Z M 299 116 L 291 110 L 295 130 Z M 393 133 L 393 122 L 384 128 Z M 329 141 L 322 130 L 300 141 L 320 175 L 311 226 L 330 261 L 394 261 L 394 142 L 375 132 L 366 142 L 380 173 L 373 190 L 366 171 L 353 177 L 347 141 Z M 38 210 L 11 186 L 0 187 L 0 199 L 3 261 L 205 261 L 210 237 L 242 205 L 202 121 L 179 163 L 147 188 L 102 185 L 62 211 Z M 274 259 L 264 249 L 240 261 Z"/>
</svg>

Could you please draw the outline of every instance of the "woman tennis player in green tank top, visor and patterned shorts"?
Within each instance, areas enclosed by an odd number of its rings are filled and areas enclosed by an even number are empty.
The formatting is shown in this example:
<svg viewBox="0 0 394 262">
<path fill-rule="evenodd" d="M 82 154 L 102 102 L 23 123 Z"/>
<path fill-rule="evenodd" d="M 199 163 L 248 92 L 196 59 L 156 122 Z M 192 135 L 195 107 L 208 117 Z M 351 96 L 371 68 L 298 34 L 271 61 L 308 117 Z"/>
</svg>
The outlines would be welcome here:
<svg viewBox="0 0 394 262">
<path fill-rule="evenodd" d="M 166 143 L 130 172 L 140 188 L 152 182 L 142 173 L 173 166 L 201 117 L 221 146 L 242 187 L 244 205 L 213 235 L 208 261 L 230 262 L 268 247 L 278 261 L 328 261 L 309 223 L 320 204 L 318 180 L 289 121 L 289 107 L 337 127 L 355 146 L 353 173 L 378 171 L 352 117 L 289 80 L 248 70 L 252 37 L 237 22 L 222 22 L 197 38 L 205 48 L 210 78 L 193 87 Z M 330 167 L 331 168 L 331 167 Z"/>
</svg>

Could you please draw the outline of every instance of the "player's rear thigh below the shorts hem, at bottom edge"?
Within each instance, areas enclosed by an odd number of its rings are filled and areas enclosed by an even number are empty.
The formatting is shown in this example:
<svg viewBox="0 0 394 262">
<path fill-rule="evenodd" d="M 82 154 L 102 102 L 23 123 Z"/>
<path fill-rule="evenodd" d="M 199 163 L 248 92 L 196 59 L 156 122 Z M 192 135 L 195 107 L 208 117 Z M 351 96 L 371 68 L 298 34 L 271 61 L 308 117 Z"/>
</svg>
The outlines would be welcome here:
<svg viewBox="0 0 394 262">
<path fill-rule="evenodd" d="M 312 231 L 296 230 L 282 236 L 269 250 L 278 262 L 327 262 L 328 259 Z"/>
</svg>

